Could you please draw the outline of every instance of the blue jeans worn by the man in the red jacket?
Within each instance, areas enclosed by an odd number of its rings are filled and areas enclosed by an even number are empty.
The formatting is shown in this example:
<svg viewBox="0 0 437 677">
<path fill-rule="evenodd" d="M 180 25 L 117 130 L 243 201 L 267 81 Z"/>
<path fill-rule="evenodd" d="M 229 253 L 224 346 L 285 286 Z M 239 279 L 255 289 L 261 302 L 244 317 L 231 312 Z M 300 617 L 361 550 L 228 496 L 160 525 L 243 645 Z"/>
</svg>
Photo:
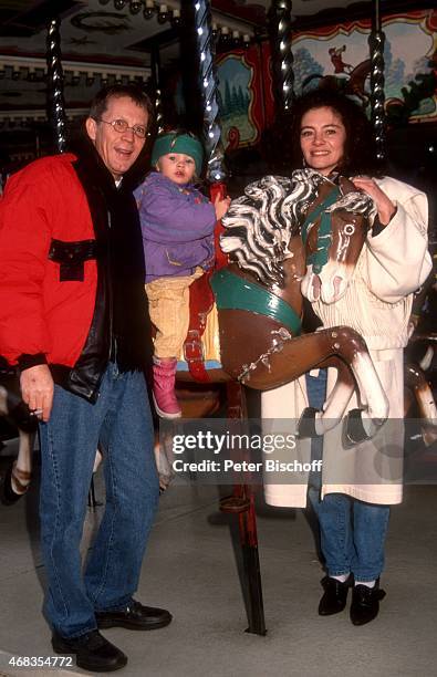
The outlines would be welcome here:
<svg viewBox="0 0 437 677">
<path fill-rule="evenodd" d="M 143 374 L 122 374 L 111 363 L 95 405 L 55 386 L 40 438 L 44 613 L 62 636 L 76 637 L 96 628 L 95 611 L 125 607 L 137 589 L 159 494 Z M 106 504 L 82 573 L 80 542 L 98 442 Z"/>
</svg>

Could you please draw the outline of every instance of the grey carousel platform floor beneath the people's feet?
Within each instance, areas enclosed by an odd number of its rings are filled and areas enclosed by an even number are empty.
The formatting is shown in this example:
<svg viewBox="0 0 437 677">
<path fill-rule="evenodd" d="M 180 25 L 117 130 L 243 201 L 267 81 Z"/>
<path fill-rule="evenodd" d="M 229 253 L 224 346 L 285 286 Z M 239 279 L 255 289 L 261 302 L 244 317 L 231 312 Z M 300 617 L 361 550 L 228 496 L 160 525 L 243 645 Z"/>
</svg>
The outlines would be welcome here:
<svg viewBox="0 0 437 677">
<path fill-rule="evenodd" d="M 9 450 L 11 447 L 9 446 Z M 0 475 L 4 465 L 0 457 Z M 104 500 L 96 477 L 97 501 Z M 436 674 L 437 486 L 409 486 L 392 512 L 387 592 L 379 616 L 354 627 L 347 611 L 316 613 L 323 573 L 302 511 L 268 508 L 258 496 L 266 636 L 244 633 L 247 617 L 231 543 L 232 515 L 218 512 L 218 489 L 177 480 L 160 498 L 137 598 L 174 614 L 166 628 L 104 634 L 128 655 L 136 677 L 413 677 Z M 80 675 L 73 667 L 13 667 L 19 656 L 53 656 L 41 615 L 44 567 L 38 481 L 0 507 L 0 676 Z M 102 506 L 89 509 L 83 552 Z"/>
</svg>

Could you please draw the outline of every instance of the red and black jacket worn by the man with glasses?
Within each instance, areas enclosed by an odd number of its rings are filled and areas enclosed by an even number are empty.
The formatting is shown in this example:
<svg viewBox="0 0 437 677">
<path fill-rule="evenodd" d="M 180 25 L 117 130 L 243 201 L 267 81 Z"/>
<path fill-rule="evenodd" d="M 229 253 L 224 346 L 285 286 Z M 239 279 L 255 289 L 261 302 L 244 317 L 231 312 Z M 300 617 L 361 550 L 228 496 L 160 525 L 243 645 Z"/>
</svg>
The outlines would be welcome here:
<svg viewBox="0 0 437 677">
<path fill-rule="evenodd" d="M 150 331 L 135 185 L 93 145 L 37 160 L 0 201 L 0 355 L 94 402 L 110 358 L 144 369 Z"/>
</svg>

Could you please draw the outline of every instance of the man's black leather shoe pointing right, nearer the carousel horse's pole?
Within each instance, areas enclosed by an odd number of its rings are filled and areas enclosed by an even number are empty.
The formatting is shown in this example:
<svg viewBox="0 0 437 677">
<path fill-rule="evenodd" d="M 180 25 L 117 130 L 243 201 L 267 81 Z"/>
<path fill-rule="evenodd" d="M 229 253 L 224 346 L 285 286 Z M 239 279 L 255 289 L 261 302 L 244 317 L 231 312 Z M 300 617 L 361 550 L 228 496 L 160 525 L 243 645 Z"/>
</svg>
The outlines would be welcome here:
<svg viewBox="0 0 437 677">
<path fill-rule="evenodd" d="M 127 629 L 157 629 L 171 622 L 171 614 L 165 608 L 132 603 L 122 611 L 96 612 L 98 627 L 126 627 Z"/>
</svg>

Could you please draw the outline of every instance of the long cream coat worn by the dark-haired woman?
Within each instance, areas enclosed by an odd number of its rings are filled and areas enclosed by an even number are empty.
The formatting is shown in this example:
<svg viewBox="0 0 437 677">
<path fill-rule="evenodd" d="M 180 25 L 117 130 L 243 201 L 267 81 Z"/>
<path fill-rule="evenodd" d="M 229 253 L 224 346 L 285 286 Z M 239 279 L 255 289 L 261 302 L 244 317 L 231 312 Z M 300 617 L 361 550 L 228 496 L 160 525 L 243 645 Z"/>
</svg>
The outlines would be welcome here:
<svg viewBox="0 0 437 677">
<path fill-rule="evenodd" d="M 397 211 L 376 237 L 370 233 L 360 254 L 345 295 L 327 305 L 321 301 L 313 309 L 324 327 L 345 324 L 365 338 L 389 400 L 388 421 L 368 442 L 346 449 L 342 425 L 325 434 L 321 498 L 341 492 L 371 503 L 398 503 L 402 500 L 402 457 L 404 417 L 403 348 L 408 341 L 408 320 L 414 292 L 431 270 L 427 249 L 428 209 L 425 194 L 391 177 L 376 179 L 395 204 Z M 329 369 L 327 392 L 336 373 Z M 262 393 L 263 428 L 290 431 L 308 406 L 305 378 L 301 377 L 274 390 Z M 356 407 L 355 396 L 347 409 Z M 282 420 L 281 420 L 282 419 Z M 309 440 L 298 442 L 294 451 L 275 451 L 279 461 L 291 457 L 300 462 L 311 458 Z M 304 467 L 304 466 L 303 466 Z M 308 471 L 290 475 L 264 472 L 266 501 L 271 506 L 303 508 L 306 504 Z"/>
</svg>

